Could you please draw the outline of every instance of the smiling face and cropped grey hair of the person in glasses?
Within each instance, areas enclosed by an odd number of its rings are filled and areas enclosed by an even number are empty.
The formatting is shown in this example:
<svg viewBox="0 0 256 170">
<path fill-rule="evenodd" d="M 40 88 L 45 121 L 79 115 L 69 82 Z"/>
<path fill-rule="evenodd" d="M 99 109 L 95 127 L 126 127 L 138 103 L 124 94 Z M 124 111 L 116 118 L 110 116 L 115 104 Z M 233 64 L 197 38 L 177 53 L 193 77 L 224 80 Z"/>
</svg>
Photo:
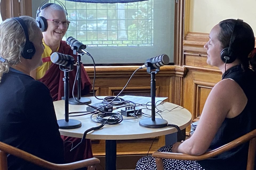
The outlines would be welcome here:
<svg viewBox="0 0 256 170">
<path fill-rule="evenodd" d="M 61 22 L 67 21 L 66 14 L 62 10 L 52 10 L 51 8 L 47 8 L 47 16 L 46 19 L 57 19 Z M 64 27 L 61 23 L 59 26 L 55 26 L 53 21 L 47 20 L 47 30 L 43 32 L 43 38 L 45 42 L 49 42 L 49 44 L 54 44 L 55 42 L 59 43 L 62 40 L 63 36 L 67 32 L 67 27 Z"/>
</svg>

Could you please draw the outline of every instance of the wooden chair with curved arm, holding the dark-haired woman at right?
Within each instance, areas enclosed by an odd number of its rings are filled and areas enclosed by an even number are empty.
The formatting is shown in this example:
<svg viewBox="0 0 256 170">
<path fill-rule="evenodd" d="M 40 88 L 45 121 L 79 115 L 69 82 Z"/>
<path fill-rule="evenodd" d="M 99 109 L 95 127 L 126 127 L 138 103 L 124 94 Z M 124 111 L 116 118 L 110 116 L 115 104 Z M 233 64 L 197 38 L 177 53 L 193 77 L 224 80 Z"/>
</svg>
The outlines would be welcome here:
<svg viewBox="0 0 256 170">
<path fill-rule="evenodd" d="M 154 152 L 152 154 L 153 157 L 156 158 L 157 170 L 163 170 L 163 159 L 177 159 L 177 160 L 203 160 L 212 158 L 223 152 L 226 152 L 232 148 L 235 148 L 247 141 L 249 143 L 249 151 L 248 151 L 248 159 L 247 159 L 247 170 L 254 169 L 254 162 L 255 162 L 255 152 L 256 152 L 256 129 L 243 135 L 240 138 L 235 139 L 223 145 L 215 150 L 206 152 L 199 156 L 188 155 L 188 154 L 180 154 L 180 153 L 171 153 L 171 152 Z"/>
</svg>

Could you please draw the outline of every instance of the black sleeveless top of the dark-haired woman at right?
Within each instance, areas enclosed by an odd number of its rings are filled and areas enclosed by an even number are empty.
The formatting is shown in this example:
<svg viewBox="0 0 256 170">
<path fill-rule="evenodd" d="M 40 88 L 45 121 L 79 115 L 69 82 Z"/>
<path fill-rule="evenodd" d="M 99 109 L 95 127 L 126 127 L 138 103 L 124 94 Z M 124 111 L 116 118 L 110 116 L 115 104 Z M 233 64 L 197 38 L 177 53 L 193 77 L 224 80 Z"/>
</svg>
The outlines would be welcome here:
<svg viewBox="0 0 256 170">
<path fill-rule="evenodd" d="M 241 65 L 231 67 L 223 75 L 239 84 L 247 97 L 245 109 L 234 118 L 225 118 L 217 131 L 209 150 L 225 145 L 234 139 L 256 129 L 256 74 L 251 69 L 243 70 Z M 228 87 L 227 87 L 228 88 Z M 235 93 L 235 91 L 234 91 Z M 218 113 L 216 113 L 218 114 Z M 245 170 L 247 164 L 249 142 L 214 158 L 201 160 L 198 163 L 205 170 Z"/>
</svg>

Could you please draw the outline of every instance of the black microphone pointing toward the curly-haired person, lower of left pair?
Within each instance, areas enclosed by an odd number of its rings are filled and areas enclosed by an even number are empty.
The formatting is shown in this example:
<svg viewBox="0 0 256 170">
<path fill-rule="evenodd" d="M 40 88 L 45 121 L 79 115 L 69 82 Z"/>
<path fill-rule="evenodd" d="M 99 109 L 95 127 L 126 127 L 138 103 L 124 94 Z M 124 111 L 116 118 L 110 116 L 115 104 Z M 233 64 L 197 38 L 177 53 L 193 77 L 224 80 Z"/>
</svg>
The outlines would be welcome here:
<svg viewBox="0 0 256 170">
<path fill-rule="evenodd" d="M 53 62 L 54 64 L 64 66 L 64 67 L 68 67 L 71 64 L 77 65 L 74 57 L 72 57 L 70 55 L 58 53 L 58 52 L 54 52 L 51 54 L 51 62 Z"/>
</svg>

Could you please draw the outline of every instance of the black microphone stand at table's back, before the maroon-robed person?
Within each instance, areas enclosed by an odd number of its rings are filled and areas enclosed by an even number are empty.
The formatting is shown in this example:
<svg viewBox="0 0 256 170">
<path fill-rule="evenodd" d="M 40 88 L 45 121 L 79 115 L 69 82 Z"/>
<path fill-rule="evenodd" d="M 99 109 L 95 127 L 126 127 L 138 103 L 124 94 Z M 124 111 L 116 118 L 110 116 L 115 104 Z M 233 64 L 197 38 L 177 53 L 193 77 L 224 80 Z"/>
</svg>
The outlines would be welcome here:
<svg viewBox="0 0 256 170">
<path fill-rule="evenodd" d="M 84 54 L 77 54 L 77 50 L 76 47 L 73 46 L 73 48 L 71 47 L 71 49 L 73 49 L 73 54 L 77 55 L 77 69 L 80 69 L 77 75 L 77 100 L 82 102 L 82 103 L 87 103 L 90 104 L 91 103 L 91 99 L 87 98 L 87 97 L 81 97 L 81 56 Z M 83 68 L 82 68 L 83 69 Z M 76 101 L 73 97 L 69 98 L 69 104 L 73 104 L 73 105 L 82 105 L 82 103 L 79 103 L 78 101 Z"/>
</svg>

